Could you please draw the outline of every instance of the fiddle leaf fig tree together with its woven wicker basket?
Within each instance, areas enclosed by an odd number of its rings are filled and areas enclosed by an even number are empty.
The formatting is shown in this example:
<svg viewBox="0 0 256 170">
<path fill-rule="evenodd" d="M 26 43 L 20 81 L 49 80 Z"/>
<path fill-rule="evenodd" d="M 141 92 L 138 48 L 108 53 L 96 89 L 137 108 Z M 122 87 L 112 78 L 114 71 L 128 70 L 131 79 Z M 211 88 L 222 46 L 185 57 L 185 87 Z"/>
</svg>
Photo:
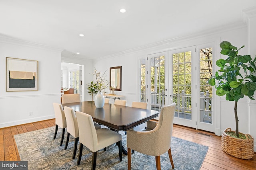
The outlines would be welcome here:
<svg viewBox="0 0 256 170">
<path fill-rule="evenodd" d="M 218 96 L 226 95 L 226 100 L 234 101 L 236 120 L 236 131 L 228 128 L 222 134 L 222 150 L 237 158 L 250 159 L 254 155 L 254 139 L 248 134 L 239 133 L 237 104 L 244 96 L 254 100 L 256 76 L 253 74 L 256 72 L 256 58 L 252 60 L 250 55 L 238 55 L 241 48 L 237 49 L 228 41 L 220 43 L 220 48 L 222 49 L 220 53 L 228 57 L 216 61 L 220 69 L 208 80 L 208 84 L 215 86 Z M 245 75 L 242 75 L 242 70 Z"/>
</svg>

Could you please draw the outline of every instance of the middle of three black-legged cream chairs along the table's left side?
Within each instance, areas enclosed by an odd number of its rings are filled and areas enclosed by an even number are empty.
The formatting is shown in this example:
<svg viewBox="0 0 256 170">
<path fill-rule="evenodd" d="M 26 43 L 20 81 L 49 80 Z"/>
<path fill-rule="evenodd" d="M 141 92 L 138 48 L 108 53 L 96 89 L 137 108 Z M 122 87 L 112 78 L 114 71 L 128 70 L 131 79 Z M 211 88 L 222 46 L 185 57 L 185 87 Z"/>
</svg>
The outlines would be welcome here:
<svg viewBox="0 0 256 170">
<path fill-rule="evenodd" d="M 77 143 L 79 140 L 79 131 L 78 131 L 76 114 L 75 114 L 74 109 L 67 107 L 67 106 L 64 106 L 64 112 L 65 112 L 65 116 L 66 116 L 67 132 L 68 132 L 65 150 L 68 147 L 69 136 L 71 134 L 75 138 L 74 151 L 73 151 L 73 156 L 72 156 L 72 159 L 74 159 L 76 157 Z M 94 126 L 95 126 L 95 129 L 101 128 L 101 126 L 98 125 L 97 123 L 94 123 Z"/>
</svg>

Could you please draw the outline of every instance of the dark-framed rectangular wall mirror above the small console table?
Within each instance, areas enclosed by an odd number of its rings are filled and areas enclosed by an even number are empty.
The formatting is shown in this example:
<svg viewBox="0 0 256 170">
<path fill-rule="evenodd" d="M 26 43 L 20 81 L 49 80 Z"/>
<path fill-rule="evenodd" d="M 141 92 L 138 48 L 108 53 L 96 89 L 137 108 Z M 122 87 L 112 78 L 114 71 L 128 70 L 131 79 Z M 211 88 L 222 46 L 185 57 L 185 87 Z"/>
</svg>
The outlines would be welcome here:
<svg viewBox="0 0 256 170">
<path fill-rule="evenodd" d="M 122 66 L 110 67 L 109 86 L 114 87 L 114 90 L 121 91 L 122 87 Z"/>
</svg>

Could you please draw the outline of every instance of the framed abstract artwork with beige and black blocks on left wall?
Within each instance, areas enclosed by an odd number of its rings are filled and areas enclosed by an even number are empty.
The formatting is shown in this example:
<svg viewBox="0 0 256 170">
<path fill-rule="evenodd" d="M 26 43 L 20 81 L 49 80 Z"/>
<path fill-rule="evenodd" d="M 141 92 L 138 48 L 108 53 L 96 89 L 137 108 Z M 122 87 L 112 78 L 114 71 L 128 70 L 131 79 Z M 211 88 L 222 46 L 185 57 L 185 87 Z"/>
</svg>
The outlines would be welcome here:
<svg viewBox="0 0 256 170">
<path fill-rule="evenodd" d="M 6 91 L 38 90 L 38 61 L 6 57 Z"/>
</svg>

